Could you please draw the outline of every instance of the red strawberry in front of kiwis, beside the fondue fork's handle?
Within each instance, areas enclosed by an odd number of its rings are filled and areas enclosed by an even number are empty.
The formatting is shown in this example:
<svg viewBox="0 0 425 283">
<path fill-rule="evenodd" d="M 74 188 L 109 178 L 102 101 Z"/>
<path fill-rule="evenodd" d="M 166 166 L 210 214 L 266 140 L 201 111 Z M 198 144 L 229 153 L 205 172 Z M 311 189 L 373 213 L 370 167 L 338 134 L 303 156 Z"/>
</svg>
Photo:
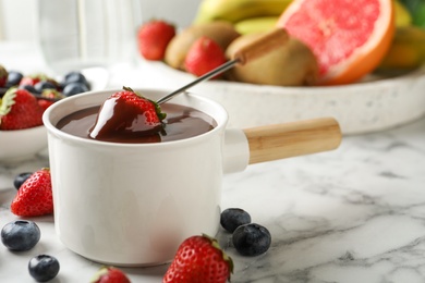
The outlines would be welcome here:
<svg viewBox="0 0 425 283">
<path fill-rule="evenodd" d="M 202 76 L 223 63 L 226 63 L 224 51 L 206 36 L 193 42 L 184 60 L 186 71 L 196 76 Z"/>
</svg>

